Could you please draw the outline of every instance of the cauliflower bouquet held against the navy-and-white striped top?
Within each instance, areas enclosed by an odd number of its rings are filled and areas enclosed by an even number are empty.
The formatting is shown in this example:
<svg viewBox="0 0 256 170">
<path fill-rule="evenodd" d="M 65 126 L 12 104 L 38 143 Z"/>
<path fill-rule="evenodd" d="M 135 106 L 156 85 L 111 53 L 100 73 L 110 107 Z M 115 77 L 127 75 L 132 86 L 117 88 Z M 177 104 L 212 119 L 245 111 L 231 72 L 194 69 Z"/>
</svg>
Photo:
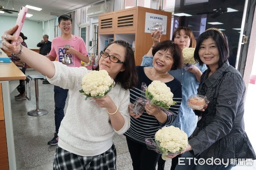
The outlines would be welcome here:
<svg viewBox="0 0 256 170">
<path fill-rule="evenodd" d="M 172 100 L 173 93 L 166 84 L 161 81 L 155 80 L 145 90 L 145 96 L 150 101 L 150 104 L 154 104 L 164 109 L 169 109 L 171 105 L 176 102 Z"/>
</svg>

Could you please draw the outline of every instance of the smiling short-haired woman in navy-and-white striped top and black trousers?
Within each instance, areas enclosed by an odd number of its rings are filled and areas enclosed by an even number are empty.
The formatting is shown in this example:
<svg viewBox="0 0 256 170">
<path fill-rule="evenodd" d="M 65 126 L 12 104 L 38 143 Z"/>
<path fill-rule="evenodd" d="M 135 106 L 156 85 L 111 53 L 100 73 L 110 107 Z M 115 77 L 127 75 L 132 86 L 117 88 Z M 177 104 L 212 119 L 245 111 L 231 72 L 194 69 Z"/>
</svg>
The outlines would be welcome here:
<svg viewBox="0 0 256 170">
<path fill-rule="evenodd" d="M 180 82 L 168 73 L 169 70 L 180 69 L 183 66 L 179 46 L 171 40 L 165 40 L 158 43 L 152 53 L 154 55 L 153 67 L 137 66 L 139 83 L 130 89 L 130 102 L 133 103 L 137 98 L 145 97 L 145 92 L 141 90 L 143 82 L 148 86 L 152 81 L 158 80 L 170 87 L 174 94 L 173 100 L 177 104 L 169 109 L 172 114 L 165 113 L 150 104 L 146 104 L 142 115 L 135 116 L 135 113 L 130 113 L 131 127 L 125 136 L 134 170 L 155 170 L 160 154 L 147 149 L 145 138 L 154 138 L 157 130 L 174 121 L 182 97 Z"/>
</svg>

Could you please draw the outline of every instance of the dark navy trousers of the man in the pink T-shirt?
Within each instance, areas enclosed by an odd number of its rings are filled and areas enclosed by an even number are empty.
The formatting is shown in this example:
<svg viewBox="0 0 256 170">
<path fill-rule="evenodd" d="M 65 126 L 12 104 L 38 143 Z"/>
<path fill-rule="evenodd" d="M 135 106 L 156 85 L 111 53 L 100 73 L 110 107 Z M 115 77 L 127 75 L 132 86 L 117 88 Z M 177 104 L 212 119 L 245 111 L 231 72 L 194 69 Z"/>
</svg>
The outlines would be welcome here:
<svg viewBox="0 0 256 170">
<path fill-rule="evenodd" d="M 61 125 L 61 121 L 64 118 L 64 107 L 66 104 L 68 89 L 62 89 L 59 86 L 54 86 L 54 102 L 55 102 L 55 132 L 58 134 L 58 130 Z"/>
</svg>

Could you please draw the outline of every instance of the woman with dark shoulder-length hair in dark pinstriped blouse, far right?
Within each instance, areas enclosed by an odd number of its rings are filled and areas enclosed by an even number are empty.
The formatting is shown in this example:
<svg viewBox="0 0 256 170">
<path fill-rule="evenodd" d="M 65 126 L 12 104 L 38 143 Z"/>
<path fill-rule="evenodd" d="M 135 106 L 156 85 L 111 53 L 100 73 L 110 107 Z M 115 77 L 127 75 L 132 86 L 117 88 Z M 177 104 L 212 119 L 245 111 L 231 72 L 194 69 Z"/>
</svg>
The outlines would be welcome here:
<svg viewBox="0 0 256 170">
<path fill-rule="evenodd" d="M 256 155 L 244 131 L 245 84 L 239 71 L 227 61 L 226 36 L 219 29 L 207 29 L 198 37 L 194 56 L 208 67 L 201 76 L 198 94 L 210 102 L 208 107 L 195 111 L 202 116 L 199 130 L 180 157 L 183 165 L 175 170 L 230 170 L 239 159 L 252 162 Z M 208 161 L 201 164 L 203 159 Z"/>
</svg>

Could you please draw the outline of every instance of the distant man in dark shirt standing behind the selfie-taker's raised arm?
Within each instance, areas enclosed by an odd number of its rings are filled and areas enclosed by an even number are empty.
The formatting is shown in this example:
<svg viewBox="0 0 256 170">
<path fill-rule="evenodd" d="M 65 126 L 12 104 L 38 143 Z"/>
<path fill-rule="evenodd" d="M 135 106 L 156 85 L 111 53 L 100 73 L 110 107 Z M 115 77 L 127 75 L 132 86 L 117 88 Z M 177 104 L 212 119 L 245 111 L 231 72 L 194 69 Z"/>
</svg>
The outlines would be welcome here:
<svg viewBox="0 0 256 170">
<path fill-rule="evenodd" d="M 51 51 L 52 42 L 48 41 L 48 39 L 49 39 L 48 35 L 44 35 L 43 39 L 44 40 L 41 40 L 41 42 L 38 43 L 36 46 L 40 47 L 39 54 L 48 55 L 49 52 Z M 50 84 L 50 83 L 45 79 L 43 81 L 43 84 Z"/>
</svg>

